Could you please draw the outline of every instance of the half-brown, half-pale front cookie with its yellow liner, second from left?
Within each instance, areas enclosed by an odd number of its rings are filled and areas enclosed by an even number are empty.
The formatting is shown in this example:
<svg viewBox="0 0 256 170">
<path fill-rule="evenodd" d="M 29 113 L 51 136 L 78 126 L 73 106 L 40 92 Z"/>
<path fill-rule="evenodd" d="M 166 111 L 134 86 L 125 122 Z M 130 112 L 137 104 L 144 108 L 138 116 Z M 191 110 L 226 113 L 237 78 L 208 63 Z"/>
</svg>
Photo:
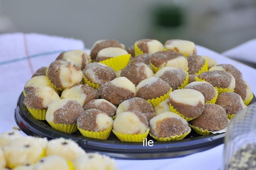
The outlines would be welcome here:
<svg viewBox="0 0 256 170">
<path fill-rule="evenodd" d="M 113 120 L 101 110 L 89 109 L 79 116 L 77 126 L 85 137 L 107 139 L 112 130 Z"/>
</svg>

